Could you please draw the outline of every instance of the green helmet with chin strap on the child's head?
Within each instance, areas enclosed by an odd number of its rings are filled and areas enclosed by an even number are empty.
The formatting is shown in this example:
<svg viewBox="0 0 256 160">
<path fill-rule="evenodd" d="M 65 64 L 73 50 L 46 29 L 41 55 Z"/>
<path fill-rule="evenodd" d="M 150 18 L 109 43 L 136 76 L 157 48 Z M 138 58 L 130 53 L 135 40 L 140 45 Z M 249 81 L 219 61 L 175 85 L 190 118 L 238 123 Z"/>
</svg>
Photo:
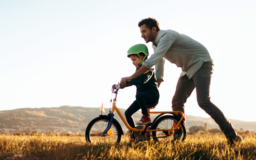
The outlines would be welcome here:
<svg viewBox="0 0 256 160">
<path fill-rule="evenodd" d="M 139 53 L 144 53 L 144 58 L 142 59 L 140 57 Z M 130 57 L 130 55 L 132 54 L 137 54 L 140 57 L 140 66 L 142 64 L 142 61 L 144 61 L 147 57 L 148 57 L 148 47 L 145 44 L 136 44 L 134 46 L 132 46 L 131 48 L 129 48 L 128 52 L 127 52 L 127 57 Z"/>
</svg>

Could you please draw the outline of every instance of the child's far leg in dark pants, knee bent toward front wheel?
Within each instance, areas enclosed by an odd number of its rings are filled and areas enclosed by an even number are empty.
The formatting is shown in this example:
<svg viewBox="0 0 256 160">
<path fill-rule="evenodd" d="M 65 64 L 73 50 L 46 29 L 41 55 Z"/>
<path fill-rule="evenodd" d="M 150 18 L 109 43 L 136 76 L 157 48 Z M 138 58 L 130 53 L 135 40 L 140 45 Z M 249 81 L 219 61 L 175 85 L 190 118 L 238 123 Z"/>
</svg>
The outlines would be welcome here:
<svg viewBox="0 0 256 160">
<path fill-rule="evenodd" d="M 131 106 L 126 109 L 126 111 L 124 112 L 124 115 L 125 115 L 125 118 L 128 122 L 128 124 L 132 127 L 132 128 L 135 128 L 135 122 L 133 120 L 133 117 L 132 115 L 137 112 L 138 110 L 140 109 L 140 106 L 137 102 L 137 100 L 135 100 Z"/>
</svg>

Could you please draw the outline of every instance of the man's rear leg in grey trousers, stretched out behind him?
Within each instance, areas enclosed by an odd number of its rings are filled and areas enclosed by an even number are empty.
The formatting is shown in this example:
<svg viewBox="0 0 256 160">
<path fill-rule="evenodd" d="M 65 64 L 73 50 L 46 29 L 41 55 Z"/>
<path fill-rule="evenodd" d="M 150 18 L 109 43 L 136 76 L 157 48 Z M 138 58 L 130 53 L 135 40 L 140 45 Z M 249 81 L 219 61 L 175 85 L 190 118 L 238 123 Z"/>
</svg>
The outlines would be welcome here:
<svg viewBox="0 0 256 160">
<path fill-rule="evenodd" d="M 228 118 L 210 101 L 209 93 L 212 79 L 212 63 L 204 62 L 192 79 L 196 85 L 198 105 L 220 126 L 220 130 L 227 138 L 235 138 L 237 133 Z"/>
</svg>

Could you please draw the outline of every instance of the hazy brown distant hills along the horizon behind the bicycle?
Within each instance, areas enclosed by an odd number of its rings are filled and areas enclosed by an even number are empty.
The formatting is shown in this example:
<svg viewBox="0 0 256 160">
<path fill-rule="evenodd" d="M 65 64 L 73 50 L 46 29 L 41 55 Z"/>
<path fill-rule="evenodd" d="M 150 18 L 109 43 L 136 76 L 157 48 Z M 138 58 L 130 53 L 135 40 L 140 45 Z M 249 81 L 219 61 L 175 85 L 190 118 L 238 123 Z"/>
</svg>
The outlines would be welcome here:
<svg viewBox="0 0 256 160">
<path fill-rule="evenodd" d="M 119 108 L 124 115 L 125 109 Z M 108 109 L 105 108 L 105 115 L 108 114 Z M 14 110 L 0 111 L 0 130 L 18 129 L 19 131 L 56 131 L 59 130 L 79 130 L 84 133 L 88 123 L 95 117 L 99 116 L 101 111 L 99 108 L 85 108 L 85 107 L 54 107 L 54 108 L 20 108 Z M 133 115 L 135 122 L 140 120 L 141 112 Z M 152 115 L 153 119 L 155 116 Z M 127 128 L 119 116 L 115 118 L 122 125 L 124 131 Z M 197 116 L 186 115 L 187 129 L 192 125 L 207 124 L 208 128 L 219 128 L 219 126 L 212 120 L 212 118 L 203 118 Z M 255 131 L 256 122 L 244 122 L 230 119 L 234 128 L 239 130 L 243 128 L 244 131 Z"/>
</svg>

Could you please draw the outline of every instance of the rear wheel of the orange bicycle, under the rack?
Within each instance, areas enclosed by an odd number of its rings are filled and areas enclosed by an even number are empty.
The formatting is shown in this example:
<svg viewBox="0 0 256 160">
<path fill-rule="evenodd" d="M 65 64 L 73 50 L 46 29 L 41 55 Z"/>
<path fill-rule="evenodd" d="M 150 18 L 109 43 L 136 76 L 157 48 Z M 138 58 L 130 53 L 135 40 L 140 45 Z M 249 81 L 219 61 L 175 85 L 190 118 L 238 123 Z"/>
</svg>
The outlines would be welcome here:
<svg viewBox="0 0 256 160">
<path fill-rule="evenodd" d="M 153 124 L 152 129 L 171 129 L 173 127 L 173 123 L 176 122 L 176 124 L 180 121 L 180 118 L 173 116 L 173 115 L 165 115 L 165 116 L 161 116 L 159 117 L 155 123 Z M 154 140 L 157 141 L 163 141 L 163 140 L 171 140 L 171 141 L 176 141 L 176 142 L 182 142 L 185 140 L 186 138 L 186 128 L 185 125 L 183 124 L 183 122 L 181 121 L 181 123 L 179 124 L 179 134 L 174 135 L 174 133 L 172 132 L 172 134 L 168 134 L 168 132 L 163 132 L 163 131 L 153 131 L 152 135 L 155 137 L 153 137 Z M 163 137 L 163 138 L 161 138 Z"/>
</svg>

